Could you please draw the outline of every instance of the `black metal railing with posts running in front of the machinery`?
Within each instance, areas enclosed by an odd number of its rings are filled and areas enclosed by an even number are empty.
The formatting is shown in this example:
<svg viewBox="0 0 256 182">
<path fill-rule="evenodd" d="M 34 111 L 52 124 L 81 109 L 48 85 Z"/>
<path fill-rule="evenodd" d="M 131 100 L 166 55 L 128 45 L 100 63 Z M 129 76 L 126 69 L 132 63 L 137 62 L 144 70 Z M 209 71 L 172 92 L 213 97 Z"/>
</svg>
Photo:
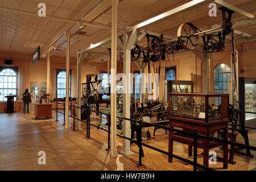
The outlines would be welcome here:
<svg viewBox="0 0 256 182">
<path fill-rule="evenodd" d="M 57 102 L 57 101 L 55 101 L 55 102 L 56 102 L 56 105 L 60 104 L 60 102 Z M 72 108 L 73 109 L 73 115 L 69 115 L 69 117 L 73 118 L 73 130 L 75 130 L 75 120 L 77 120 L 77 121 L 81 121 L 81 122 L 86 123 L 86 137 L 85 137 L 86 139 L 90 139 L 90 126 L 93 126 L 93 127 L 96 127 L 97 129 L 101 129 L 101 130 L 104 130 L 104 131 L 108 132 L 108 148 L 106 148 L 106 151 L 109 151 L 110 150 L 110 133 L 111 133 L 111 131 L 110 131 L 110 127 L 111 127 L 110 124 L 108 125 L 108 129 L 104 129 L 104 128 L 99 127 L 97 125 L 94 125 L 94 123 L 90 122 L 90 113 L 92 113 L 92 112 L 98 113 L 98 114 L 105 114 L 105 113 L 101 113 L 100 111 L 91 109 L 90 105 L 88 105 L 88 107 L 86 107 L 86 108 L 85 107 L 75 106 L 75 105 L 69 105 L 69 106 L 73 107 Z M 77 109 L 81 109 L 81 110 L 82 109 L 86 109 L 86 119 L 76 118 L 76 116 L 75 116 L 75 109 L 76 108 Z M 57 107 L 56 107 L 56 109 L 52 109 L 52 110 L 56 111 L 57 113 L 61 113 L 60 111 L 57 110 Z M 61 113 L 61 114 L 65 114 L 65 112 Z M 57 114 L 56 114 L 56 118 L 57 118 Z M 110 118 L 111 118 L 111 115 L 109 113 L 107 115 L 108 123 L 110 123 Z M 125 137 L 125 136 L 117 133 L 118 137 L 130 140 L 130 142 L 133 142 L 133 143 L 137 144 L 137 146 L 139 147 L 139 162 L 138 162 L 138 165 L 137 165 L 138 168 L 142 168 L 143 167 L 143 164 L 142 164 L 142 157 L 143 157 L 142 146 L 150 148 L 150 149 L 155 150 L 155 151 L 158 151 L 158 152 L 160 152 L 162 154 L 165 154 L 165 155 L 168 155 L 168 156 L 172 156 L 173 158 L 179 159 L 179 160 L 181 160 L 183 162 L 186 162 L 188 164 L 191 164 L 193 166 L 193 171 L 197 171 L 197 168 L 202 168 L 202 169 L 206 169 L 206 170 L 210 170 L 210 171 L 216 171 L 213 168 L 205 167 L 202 164 L 197 163 L 197 148 L 198 148 L 197 147 L 197 141 L 198 141 L 199 138 L 209 139 L 209 140 L 213 140 L 213 141 L 216 141 L 216 142 L 230 144 L 232 146 L 242 147 L 242 148 L 246 148 L 248 150 L 256 151 L 256 147 L 254 147 L 254 146 L 249 146 L 249 145 L 241 144 L 241 143 L 237 143 L 237 142 L 231 142 L 229 140 L 224 140 L 224 139 L 220 139 L 220 138 L 216 138 L 216 137 L 208 137 L 208 136 L 199 134 L 196 131 L 195 131 L 195 133 L 190 133 L 188 131 L 171 129 L 170 127 L 161 126 L 161 125 L 157 125 L 157 124 L 154 124 L 154 123 L 143 122 L 141 119 L 140 120 L 135 120 L 135 119 L 119 117 L 119 116 L 117 116 L 117 118 L 118 119 L 123 119 L 123 120 L 126 120 L 126 121 L 130 121 L 131 124 L 133 124 L 134 126 L 138 127 L 137 131 L 139 131 L 139 132 L 137 133 L 137 135 L 138 135 L 138 139 L 137 140 L 129 138 L 129 137 Z M 65 122 L 65 120 L 64 120 L 64 122 Z M 185 158 L 183 158 L 181 156 L 178 156 L 178 155 L 175 155 L 175 154 L 170 154 L 169 152 L 163 151 L 160 148 L 156 148 L 154 146 L 150 146 L 150 145 L 148 145 L 146 143 L 143 143 L 142 142 L 142 125 L 143 124 L 144 125 L 149 125 L 149 126 L 155 126 L 155 127 L 161 128 L 161 129 L 169 130 L 169 131 L 172 130 L 172 131 L 175 131 L 177 133 L 189 135 L 190 137 L 192 137 L 193 138 L 193 146 L 194 146 L 194 148 L 193 148 L 193 153 L 194 153 L 193 154 L 193 160 L 188 160 L 188 159 L 185 159 Z"/>
</svg>

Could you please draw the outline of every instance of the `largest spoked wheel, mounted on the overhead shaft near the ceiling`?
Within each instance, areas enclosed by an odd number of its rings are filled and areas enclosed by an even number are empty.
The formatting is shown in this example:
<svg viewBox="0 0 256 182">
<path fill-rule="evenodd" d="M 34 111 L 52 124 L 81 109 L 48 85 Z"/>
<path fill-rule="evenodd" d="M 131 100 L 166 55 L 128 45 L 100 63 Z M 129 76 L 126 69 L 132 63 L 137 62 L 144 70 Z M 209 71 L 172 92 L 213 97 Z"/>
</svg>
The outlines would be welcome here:
<svg viewBox="0 0 256 182">
<path fill-rule="evenodd" d="M 192 23 L 183 23 L 177 31 L 180 45 L 187 50 L 195 49 L 198 44 L 197 28 Z"/>
</svg>

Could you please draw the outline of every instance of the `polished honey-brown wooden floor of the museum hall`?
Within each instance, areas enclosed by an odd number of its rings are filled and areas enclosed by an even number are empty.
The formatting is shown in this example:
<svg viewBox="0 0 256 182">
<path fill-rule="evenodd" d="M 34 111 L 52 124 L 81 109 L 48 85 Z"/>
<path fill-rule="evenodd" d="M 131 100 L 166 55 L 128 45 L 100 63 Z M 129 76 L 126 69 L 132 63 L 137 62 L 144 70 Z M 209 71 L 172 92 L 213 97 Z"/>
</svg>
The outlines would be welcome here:
<svg viewBox="0 0 256 182">
<path fill-rule="evenodd" d="M 55 117 L 55 113 L 53 114 Z M 94 115 L 91 121 L 98 123 Z M 138 147 L 132 144 L 133 155 L 117 158 L 110 157 L 105 151 L 108 138 L 107 133 L 91 127 L 90 137 L 85 139 L 86 130 L 65 130 L 63 116 L 59 114 L 59 122 L 55 118 L 35 120 L 34 114 L 1 113 L 0 114 L 0 170 L 185 170 L 191 171 L 193 167 L 185 162 L 174 159 L 167 162 L 167 155 L 143 147 L 144 158 L 142 164 L 146 167 L 138 169 Z M 82 125 L 85 128 L 85 124 Z M 153 127 L 149 128 L 152 135 Z M 250 145 L 256 146 L 256 131 L 249 132 Z M 241 138 L 240 138 L 241 140 Z M 159 129 L 156 136 L 144 143 L 168 151 L 168 135 Z M 122 139 L 118 137 L 118 150 L 122 150 Z M 217 155 L 222 156 L 219 148 L 214 148 Z M 38 152 L 46 152 L 46 165 L 38 164 Z M 202 150 L 198 151 L 201 154 Z M 237 164 L 229 164 L 228 170 L 256 170 L 255 158 L 235 155 Z M 193 160 L 188 157 L 188 147 L 185 144 L 174 142 L 174 154 Z M 199 163 L 203 163 L 203 155 L 199 155 Z M 224 170 L 222 163 L 210 165 L 217 170 Z"/>
</svg>

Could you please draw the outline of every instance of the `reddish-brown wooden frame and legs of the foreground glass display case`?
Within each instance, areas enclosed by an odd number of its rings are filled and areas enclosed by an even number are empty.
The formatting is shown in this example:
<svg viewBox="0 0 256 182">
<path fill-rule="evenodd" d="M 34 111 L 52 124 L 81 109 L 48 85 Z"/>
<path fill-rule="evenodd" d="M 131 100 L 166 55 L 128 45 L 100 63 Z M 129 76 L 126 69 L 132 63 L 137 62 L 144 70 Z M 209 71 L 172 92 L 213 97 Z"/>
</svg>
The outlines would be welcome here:
<svg viewBox="0 0 256 182">
<path fill-rule="evenodd" d="M 171 114 L 171 108 L 174 107 L 172 105 L 171 97 L 175 96 L 176 98 L 180 97 L 180 102 L 177 102 L 180 106 L 177 107 L 181 110 L 181 97 L 190 97 L 193 102 L 193 98 L 195 97 L 204 97 L 205 104 L 205 118 L 197 119 L 193 118 L 193 104 L 191 118 L 183 117 L 181 115 L 181 111 L 179 115 Z M 212 97 L 221 97 L 221 114 L 220 118 L 213 119 L 209 121 L 209 98 Z M 216 93 L 169 93 L 169 126 L 173 129 L 174 127 L 178 127 L 183 129 L 184 131 L 192 132 L 195 131 L 197 133 L 203 134 L 205 136 L 212 136 L 217 131 L 223 130 L 224 139 L 228 140 L 228 122 L 229 122 L 229 94 L 216 94 Z M 170 130 L 169 132 L 169 152 L 172 154 L 173 152 L 173 142 L 180 142 L 184 144 L 188 144 L 188 156 L 192 156 L 192 147 L 193 147 L 193 138 L 188 137 L 188 135 L 180 135 L 174 133 Z M 228 168 L 228 144 L 210 141 L 209 139 L 199 139 L 197 142 L 197 146 L 199 148 L 203 148 L 204 150 L 204 166 L 209 166 L 209 149 L 215 148 L 218 146 L 223 147 L 223 167 Z M 172 156 L 169 156 L 168 162 L 172 162 Z"/>
</svg>

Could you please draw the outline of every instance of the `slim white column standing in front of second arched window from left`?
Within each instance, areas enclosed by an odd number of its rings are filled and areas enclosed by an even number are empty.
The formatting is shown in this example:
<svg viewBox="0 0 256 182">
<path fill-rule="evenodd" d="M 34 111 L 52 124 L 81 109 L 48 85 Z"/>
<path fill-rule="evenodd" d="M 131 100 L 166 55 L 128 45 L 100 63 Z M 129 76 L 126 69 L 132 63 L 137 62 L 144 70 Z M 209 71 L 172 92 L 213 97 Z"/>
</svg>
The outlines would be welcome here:
<svg viewBox="0 0 256 182">
<path fill-rule="evenodd" d="M 69 51 L 70 51 L 70 35 L 66 34 L 67 48 L 66 48 L 66 100 L 65 100 L 65 129 L 69 128 Z"/>
</svg>

